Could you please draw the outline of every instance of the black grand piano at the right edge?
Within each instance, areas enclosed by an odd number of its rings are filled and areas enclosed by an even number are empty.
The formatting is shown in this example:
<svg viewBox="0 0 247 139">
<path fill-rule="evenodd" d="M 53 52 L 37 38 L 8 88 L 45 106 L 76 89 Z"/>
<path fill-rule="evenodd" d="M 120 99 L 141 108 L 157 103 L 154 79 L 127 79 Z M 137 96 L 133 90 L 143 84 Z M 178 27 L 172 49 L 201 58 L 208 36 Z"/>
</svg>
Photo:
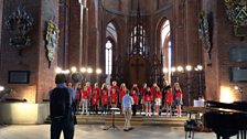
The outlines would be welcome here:
<svg viewBox="0 0 247 139">
<path fill-rule="evenodd" d="M 236 135 L 237 139 L 246 139 L 247 101 L 206 101 L 203 120 L 204 126 L 211 128 L 217 139 L 229 139 Z"/>
</svg>

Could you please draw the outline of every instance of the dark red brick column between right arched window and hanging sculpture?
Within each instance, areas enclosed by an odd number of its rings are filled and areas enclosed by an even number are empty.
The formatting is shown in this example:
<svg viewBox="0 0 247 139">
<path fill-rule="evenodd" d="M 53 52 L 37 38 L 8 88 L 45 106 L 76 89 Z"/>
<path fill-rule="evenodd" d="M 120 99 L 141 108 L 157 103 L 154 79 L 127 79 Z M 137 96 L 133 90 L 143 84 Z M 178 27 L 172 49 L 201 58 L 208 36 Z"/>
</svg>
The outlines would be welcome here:
<svg viewBox="0 0 247 139">
<path fill-rule="evenodd" d="M 198 1 L 191 0 L 185 1 L 185 44 L 184 44 L 184 55 L 186 57 L 184 62 L 184 67 L 186 65 L 196 66 L 202 65 L 202 49 L 198 44 Z M 181 47 L 182 49 L 182 47 Z M 184 99 L 187 99 L 187 105 L 193 105 L 193 99 L 198 97 L 196 73 L 185 72 L 184 86 L 186 90 L 183 90 Z"/>
</svg>

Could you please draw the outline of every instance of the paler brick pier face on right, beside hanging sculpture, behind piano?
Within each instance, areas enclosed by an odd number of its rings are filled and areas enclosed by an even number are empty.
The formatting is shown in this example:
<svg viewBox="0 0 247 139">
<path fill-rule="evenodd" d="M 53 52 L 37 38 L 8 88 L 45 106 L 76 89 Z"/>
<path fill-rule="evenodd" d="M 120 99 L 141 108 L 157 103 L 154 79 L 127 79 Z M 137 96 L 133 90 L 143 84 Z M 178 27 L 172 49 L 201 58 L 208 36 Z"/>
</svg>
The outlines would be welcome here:
<svg viewBox="0 0 247 139">
<path fill-rule="evenodd" d="M 223 15 L 225 14 L 224 11 L 222 11 L 222 13 L 218 13 L 218 9 L 223 9 L 224 8 L 224 4 L 222 4 L 221 7 L 217 8 L 217 2 L 218 1 L 214 1 L 214 0 L 203 0 L 202 1 L 202 9 L 203 11 L 205 12 L 205 14 L 210 13 L 210 12 L 213 12 L 214 14 L 214 20 L 213 20 L 213 24 L 214 24 L 214 32 L 212 32 L 213 34 L 213 44 L 212 44 L 212 65 L 211 66 L 205 66 L 205 84 L 206 84 L 206 88 L 205 88 L 205 98 L 206 99 L 210 99 L 210 100 L 219 100 L 219 55 L 218 55 L 218 36 L 222 36 L 222 34 L 224 34 L 223 36 L 224 38 L 228 38 L 229 34 L 226 33 L 226 29 L 223 29 L 223 30 L 218 30 L 218 26 L 222 26 L 222 25 L 226 25 L 228 24 L 227 22 L 224 22 L 226 19 L 226 15 Z M 216 19 L 216 17 L 221 18 L 221 21 L 219 19 Z M 221 21 L 221 22 L 219 22 Z M 227 29 L 228 30 L 228 29 Z M 221 34 L 217 32 L 221 32 Z M 224 33 L 225 32 L 225 33 Z M 222 36 L 222 38 L 223 38 Z M 222 41 L 222 40 L 221 40 Z M 226 41 L 226 40 L 225 40 Z M 222 43 L 222 42 L 221 42 Z M 223 46 L 224 50 L 227 50 L 225 47 L 225 45 Z M 226 53 L 228 54 L 228 52 Z M 204 52 L 204 60 L 205 60 L 205 63 L 204 65 L 206 65 L 206 61 L 207 61 L 207 54 Z M 227 68 L 228 70 L 228 68 Z"/>
</svg>

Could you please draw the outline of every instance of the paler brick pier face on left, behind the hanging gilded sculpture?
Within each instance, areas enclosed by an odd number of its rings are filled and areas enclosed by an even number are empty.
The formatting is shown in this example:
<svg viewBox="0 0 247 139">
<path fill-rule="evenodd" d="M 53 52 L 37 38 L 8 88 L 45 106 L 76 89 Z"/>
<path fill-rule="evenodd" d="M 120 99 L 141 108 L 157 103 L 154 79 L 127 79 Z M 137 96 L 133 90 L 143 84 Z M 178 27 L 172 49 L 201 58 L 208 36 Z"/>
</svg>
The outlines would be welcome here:
<svg viewBox="0 0 247 139">
<path fill-rule="evenodd" d="M 39 0 L 37 0 L 39 1 Z M 55 86 L 55 68 L 57 67 L 57 54 L 55 54 L 54 61 L 51 63 L 49 68 L 49 61 L 46 57 L 46 28 L 47 22 L 52 21 L 58 25 L 58 0 L 42 0 L 40 3 L 41 13 L 39 21 L 39 30 L 35 33 L 39 34 L 37 47 L 37 71 L 36 71 L 36 103 L 41 103 L 44 98 L 49 98 L 49 92 Z M 37 25 L 37 24 L 36 24 Z M 58 46 L 58 45 L 57 45 Z M 56 47 L 56 52 L 60 47 Z M 33 57 L 35 56 L 33 55 Z M 31 63 L 31 65 L 34 63 Z"/>
</svg>

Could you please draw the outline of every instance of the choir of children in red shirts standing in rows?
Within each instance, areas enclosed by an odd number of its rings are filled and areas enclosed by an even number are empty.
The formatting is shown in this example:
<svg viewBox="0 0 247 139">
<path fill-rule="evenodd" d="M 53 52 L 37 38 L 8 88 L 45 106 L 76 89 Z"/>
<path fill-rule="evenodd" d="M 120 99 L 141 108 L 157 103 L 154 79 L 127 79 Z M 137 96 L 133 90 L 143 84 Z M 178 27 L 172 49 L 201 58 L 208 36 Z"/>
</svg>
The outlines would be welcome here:
<svg viewBox="0 0 247 139">
<path fill-rule="evenodd" d="M 72 84 L 68 83 L 68 87 Z M 137 110 L 144 113 L 147 117 L 151 115 L 160 116 L 161 111 L 165 109 L 167 116 L 173 116 L 175 108 L 178 117 L 181 117 L 181 105 L 183 104 L 183 93 L 180 84 L 174 83 L 173 86 L 165 86 L 160 88 L 157 83 L 153 83 L 149 87 L 146 83 L 139 89 L 137 84 L 133 84 L 131 89 L 128 89 L 126 84 L 122 83 L 120 87 L 117 82 L 114 81 L 111 86 L 108 87 L 106 83 L 103 84 L 101 88 L 97 83 L 92 88 L 90 83 L 87 82 L 85 86 L 78 85 L 76 96 L 74 100 L 74 110 L 76 114 L 98 114 L 106 115 L 109 108 L 118 107 L 121 108 L 122 97 L 126 92 L 129 92 L 133 99 L 132 115 L 137 115 Z M 122 113 L 120 110 L 120 114 Z"/>
</svg>

